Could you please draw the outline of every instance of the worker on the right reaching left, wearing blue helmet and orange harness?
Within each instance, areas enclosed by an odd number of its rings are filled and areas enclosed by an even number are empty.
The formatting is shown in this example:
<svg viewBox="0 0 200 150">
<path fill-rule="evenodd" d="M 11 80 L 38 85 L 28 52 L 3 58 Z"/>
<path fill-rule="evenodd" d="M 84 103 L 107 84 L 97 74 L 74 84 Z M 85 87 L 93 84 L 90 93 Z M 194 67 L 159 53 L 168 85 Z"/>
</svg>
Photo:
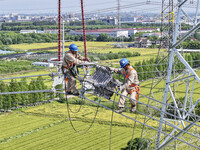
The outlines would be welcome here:
<svg viewBox="0 0 200 150">
<path fill-rule="evenodd" d="M 130 65 L 128 59 L 126 58 L 122 58 L 119 63 L 121 68 L 108 67 L 109 70 L 118 74 L 122 74 L 125 79 L 123 85 L 119 87 L 122 96 L 120 96 L 119 99 L 119 110 L 117 110 L 116 112 L 123 112 L 124 103 L 126 101 L 126 97 L 124 96 L 128 96 L 128 94 L 130 95 L 131 110 L 132 112 L 135 112 L 140 89 L 137 71 Z"/>
</svg>

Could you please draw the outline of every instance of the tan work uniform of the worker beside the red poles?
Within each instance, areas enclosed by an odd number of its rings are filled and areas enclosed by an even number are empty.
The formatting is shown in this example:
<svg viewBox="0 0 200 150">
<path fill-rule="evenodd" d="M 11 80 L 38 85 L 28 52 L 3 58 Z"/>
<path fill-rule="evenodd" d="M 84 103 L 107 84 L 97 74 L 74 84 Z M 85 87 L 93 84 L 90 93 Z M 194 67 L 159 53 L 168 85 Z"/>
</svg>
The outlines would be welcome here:
<svg viewBox="0 0 200 150">
<path fill-rule="evenodd" d="M 74 65 L 85 63 L 86 61 L 85 57 L 81 56 L 80 54 L 76 53 L 73 54 L 71 51 L 67 51 L 65 53 L 65 57 L 63 60 L 63 72 L 66 74 L 66 77 L 68 78 L 67 82 L 67 91 L 71 93 L 78 93 L 78 89 L 76 87 L 76 79 L 72 75 L 71 69 Z"/>
</svg>

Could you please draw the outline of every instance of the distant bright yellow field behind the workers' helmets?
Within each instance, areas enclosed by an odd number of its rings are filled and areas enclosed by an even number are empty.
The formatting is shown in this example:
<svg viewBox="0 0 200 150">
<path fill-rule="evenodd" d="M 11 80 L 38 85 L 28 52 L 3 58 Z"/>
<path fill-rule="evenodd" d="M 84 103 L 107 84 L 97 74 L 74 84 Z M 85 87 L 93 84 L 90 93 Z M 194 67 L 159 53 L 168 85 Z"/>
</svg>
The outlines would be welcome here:
<svg viewBox="0 0 200 150">
<path fill-rule="evenodd" d="M 70 45 L 73 42 L 67 42 L 65 45 Z M 74 42 L 79 47 L 80 52 L 84 51 L 84 43 L 81 41 Z M 137 57 L 129 57 L 128 59 L 132 64 L 138 61 L 147 60 L 150 58 L 154 58 L 157 55 L 158 49 L 151 49 L 151 48 L 113 48 L 114 42 L 87 42 L 87 51 L 93 52 L 93 53 L 118 53 L 118 52 L 139 52 L 141 56 Z M 39 48 L 48 48 L 48 47 L 54 47 L 57 46 L 57 43 L 34 43 L 34 44 L 15 44 L 10 45 L 11 48 L 16 50 L 29 50 L 29 49 L 39 49 Z M 65 50 L 68 50 L 65 48 Z M 55 50 L 49 50 L 49 51 L 57 51 Z M 164 50 L 162 50 L 164 51 Z M 121 58 L 120 58 L 121 59 Z M 100 61 L 99 63 L 102 64 L 114 64 L 115 66 L 118 65 L 118 62 L 120 59 L 113 59 L 113 60 L 106 60 L 106 61 Z"/>
</svg>

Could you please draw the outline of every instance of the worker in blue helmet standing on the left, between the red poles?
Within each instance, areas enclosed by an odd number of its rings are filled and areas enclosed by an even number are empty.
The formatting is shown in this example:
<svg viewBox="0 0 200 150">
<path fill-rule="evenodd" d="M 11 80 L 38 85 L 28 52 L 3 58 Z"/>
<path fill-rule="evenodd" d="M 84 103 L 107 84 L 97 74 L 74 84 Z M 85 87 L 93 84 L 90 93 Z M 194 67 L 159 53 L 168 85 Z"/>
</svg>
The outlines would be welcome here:
<svg viewBox="0 0 200 150">
<path fill-rule="evenodd" d="M 63 73 L 67 78 L 67 93 L 73 95 L 79 95 L 78 89 L 76 87 L 74 68 L 76 65 L 86 62 L 86 58 L 78 54 L 78 51 L 78 46 L 76 44 L 71 44 L 69 46 L 69 51 L 65 53 L 62 64 Z"/>
</svg>

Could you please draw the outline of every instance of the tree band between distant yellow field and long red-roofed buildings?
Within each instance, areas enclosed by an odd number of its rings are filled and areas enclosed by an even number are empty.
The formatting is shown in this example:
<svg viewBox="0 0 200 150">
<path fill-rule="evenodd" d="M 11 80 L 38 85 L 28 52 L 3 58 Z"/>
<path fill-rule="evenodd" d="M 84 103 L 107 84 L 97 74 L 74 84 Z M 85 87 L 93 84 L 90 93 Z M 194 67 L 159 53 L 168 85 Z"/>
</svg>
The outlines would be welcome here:
<svg viewBox="0 0 200 150">
<path fill-rule="evenodd" d="M 136 33 L 135 36 L 141 36 L 143 33 Z M 99 42 L 112 42 L 112 41 L 124 41 L 124 42 L 133 42 L 135 40 L 135 36 L 130 36 L 128 38 L 125 37 L 111 37 L 106 33 L 101 33 L 98 37 L 93 35 L 86 35 L 87 41 L 99 41 Z M 198 37 L 196 34 L 195 37 Z M 153 39 L 154 36 L 149 39 Z M 200 37 L 199 37 L 200 39 Z M 4 45 L 11 44 L 20 44 L 20 43 L 50 43 L 56 42 L 58 40 L 57 34 L 50 33 L 27 33 L 20 34 L 15 32 L 1 32 L 0 33 L 0 48 L 5 49 Z M 69 35 L 65 33 L 65 40 L 72 41 L 83 41 L 82 35 Z M 155 40 L 155 39 L 154 39 Z M 185 41 L 182 43 L 184 49 L 200 49 L 199 41 Z"/>
</svg>

